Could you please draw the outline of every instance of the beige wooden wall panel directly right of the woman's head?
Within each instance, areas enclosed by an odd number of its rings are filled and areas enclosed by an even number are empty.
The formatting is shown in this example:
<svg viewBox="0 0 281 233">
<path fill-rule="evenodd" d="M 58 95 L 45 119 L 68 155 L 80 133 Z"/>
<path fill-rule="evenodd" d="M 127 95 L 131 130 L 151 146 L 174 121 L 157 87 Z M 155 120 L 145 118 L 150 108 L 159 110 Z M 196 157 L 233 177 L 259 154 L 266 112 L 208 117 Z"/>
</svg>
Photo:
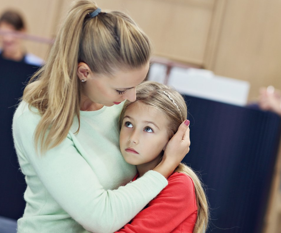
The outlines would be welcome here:
<svg viewBox="0 0 281 233">
<path fill-rule="evenodd" d="M 127 12 L 151 38 L 155 55 L 203 65 L 213 0 L 96 2 L 102 9 Z"/>
</svg>

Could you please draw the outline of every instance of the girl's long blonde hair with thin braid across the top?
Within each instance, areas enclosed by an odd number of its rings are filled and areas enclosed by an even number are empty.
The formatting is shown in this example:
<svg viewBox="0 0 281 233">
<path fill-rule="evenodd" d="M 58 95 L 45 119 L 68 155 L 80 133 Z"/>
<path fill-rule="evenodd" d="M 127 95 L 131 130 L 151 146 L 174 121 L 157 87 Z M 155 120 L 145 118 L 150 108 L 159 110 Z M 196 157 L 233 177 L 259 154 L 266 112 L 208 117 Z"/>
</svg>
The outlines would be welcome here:
<svg viewBox="0 0 281 233">
<path fill-rule="evenodd" d="M 182 95 L 158 82 L 146 81 L 138 85 L 135 102 L 155 107 L 166 115 L 169 120 L 169 138 L 177 132 L 179 125 L 187 118 L 187 106 Z M 119 129 L 122 127 L 126 108 L 135 102 L 125 101 L 119 117 Z M 203 233 L 208 227 L 209 209 L 202 182 L 197 174 L 183 163 L 179 164 L 175 172 L 187 174 L 194 183 L 198 210 L 193 233 Z"/>
</svg>

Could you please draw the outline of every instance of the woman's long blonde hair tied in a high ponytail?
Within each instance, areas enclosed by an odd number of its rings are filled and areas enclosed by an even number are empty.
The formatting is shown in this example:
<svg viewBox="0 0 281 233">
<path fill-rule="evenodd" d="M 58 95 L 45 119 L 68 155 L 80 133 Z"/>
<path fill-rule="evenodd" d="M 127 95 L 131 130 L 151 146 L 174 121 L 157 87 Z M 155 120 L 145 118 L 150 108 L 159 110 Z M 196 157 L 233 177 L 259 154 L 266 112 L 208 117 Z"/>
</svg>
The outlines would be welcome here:
<svg viewBox="0 0 281 233">
<path fill-rule="evenodd" d="M 22 99 L 42 116 L 34 137 L 41 152 L 66 138 L 75 116 L 80 127 L 79 62 L 112 77 L 116 70 L 137 69 L 149 61 L 151 43 L 128 15 L 112 11 L 91 18 L 96 9 L 89 0 L 72 3 L 46 64 L 24 89 Z"/>
</svg>

